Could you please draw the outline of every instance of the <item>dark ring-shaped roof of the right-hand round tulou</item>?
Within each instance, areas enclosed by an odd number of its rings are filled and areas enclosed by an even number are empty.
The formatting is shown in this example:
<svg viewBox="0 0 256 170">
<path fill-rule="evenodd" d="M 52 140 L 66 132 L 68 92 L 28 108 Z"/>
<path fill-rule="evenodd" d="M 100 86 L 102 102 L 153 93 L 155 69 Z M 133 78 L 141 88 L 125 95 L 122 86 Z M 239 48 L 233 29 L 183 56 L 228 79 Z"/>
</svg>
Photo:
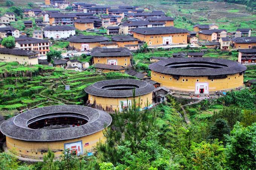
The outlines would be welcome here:
<svg viewBox="0 0 256 170">
<path fill-rule="evenodd" d="M 184 67 L 176 68 L 174 65 L 180 65 Z M 206 66 L 206 68 L 204 66 Z M 218 68 L 208 68 L 215 66 L 218 66 Z M 190 67 L 192 67 L 192 69 L 189 69 Z M 246 67 L 238 62 L 226 59 L 207 57 L 181 57 L 160 60 L 149 65 L 149 69 L 163 74 L 171 75 L 209 76 L 236 74 L 239 72 L 244 72 Z"/>
</svg>

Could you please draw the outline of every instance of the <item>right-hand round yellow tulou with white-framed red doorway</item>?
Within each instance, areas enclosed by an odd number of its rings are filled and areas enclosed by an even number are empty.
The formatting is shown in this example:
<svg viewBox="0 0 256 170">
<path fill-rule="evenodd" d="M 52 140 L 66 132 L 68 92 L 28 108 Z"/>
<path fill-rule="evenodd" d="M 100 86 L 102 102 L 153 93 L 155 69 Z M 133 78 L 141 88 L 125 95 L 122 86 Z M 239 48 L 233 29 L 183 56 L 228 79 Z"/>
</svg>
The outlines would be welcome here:
<svg viewBox="0 0 256 170">
<path fill-rule="evenodd" d="M 243 86 L 244 65 L 207 57 L 168 58 L 149 65 L 151 80 L 172 90 L 208 94 Z"/>
</svg>

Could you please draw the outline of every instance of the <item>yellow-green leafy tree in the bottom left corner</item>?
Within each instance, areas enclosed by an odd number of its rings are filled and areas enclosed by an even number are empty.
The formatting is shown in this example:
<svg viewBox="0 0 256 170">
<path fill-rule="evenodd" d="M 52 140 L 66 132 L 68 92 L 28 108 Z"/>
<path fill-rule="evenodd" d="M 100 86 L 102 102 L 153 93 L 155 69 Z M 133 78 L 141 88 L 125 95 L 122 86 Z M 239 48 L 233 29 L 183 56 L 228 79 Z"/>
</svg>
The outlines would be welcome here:
<svg viewBox="0 0 256 170">
<path fill-rule="evenodd" d="M 13 170 L 18 168 L 18 161 L 15 156 L 7 152 L 0 152 L 0 169 Z"/>
</svg>

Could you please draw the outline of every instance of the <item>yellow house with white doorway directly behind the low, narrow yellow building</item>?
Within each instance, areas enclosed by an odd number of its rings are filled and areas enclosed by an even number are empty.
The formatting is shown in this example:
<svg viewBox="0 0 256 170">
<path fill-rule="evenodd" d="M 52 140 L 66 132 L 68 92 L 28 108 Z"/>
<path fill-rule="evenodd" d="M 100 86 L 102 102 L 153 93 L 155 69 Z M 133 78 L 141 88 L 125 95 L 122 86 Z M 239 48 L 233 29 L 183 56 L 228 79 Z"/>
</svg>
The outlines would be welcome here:
<svg viewBox="0 0 256 170">
<path fill-rule="evenodd" d="M 94 63 L 131 66 L 133 54 L 127 48 L 93 48 L 91 51 Z"/>
</svg>

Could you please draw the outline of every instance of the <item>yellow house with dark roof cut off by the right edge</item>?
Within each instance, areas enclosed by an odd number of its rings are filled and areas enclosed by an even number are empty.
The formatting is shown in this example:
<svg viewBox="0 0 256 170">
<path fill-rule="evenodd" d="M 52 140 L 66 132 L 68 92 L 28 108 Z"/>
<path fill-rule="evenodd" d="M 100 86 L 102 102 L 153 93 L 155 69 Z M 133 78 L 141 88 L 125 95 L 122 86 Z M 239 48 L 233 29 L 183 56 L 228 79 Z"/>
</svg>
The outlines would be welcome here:
<svg viewBox="0 0 256 170">
<path fill-rule="evenodd" d="M 235 49 L 253 48 L 256 46 L 256 36 L 238 37 L 232 40 Z"/>
</svg>

